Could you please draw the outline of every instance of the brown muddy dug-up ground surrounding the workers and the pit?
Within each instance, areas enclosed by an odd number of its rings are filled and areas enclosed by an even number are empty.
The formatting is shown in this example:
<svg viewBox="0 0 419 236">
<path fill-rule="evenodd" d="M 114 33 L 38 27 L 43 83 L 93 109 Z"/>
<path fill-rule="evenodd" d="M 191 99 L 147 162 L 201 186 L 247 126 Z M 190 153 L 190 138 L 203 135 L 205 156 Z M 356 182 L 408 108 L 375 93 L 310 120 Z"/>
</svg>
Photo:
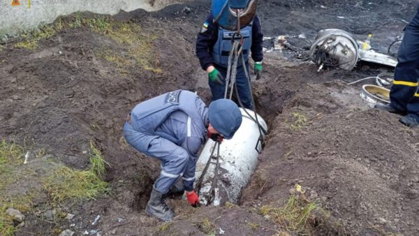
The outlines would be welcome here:
<svg viewBox="0 0 419 236">
<path fill-rule="evenodd" d="M 152 36 L 145 43 L 152 52 L 147 63 L 118 59 L 131 53 L 126 42 L 87 27 L 62 29 L 41 39 L 35 50 L 3 45 L 0 137 L 33 152 L 43 149 L 80 170 L 89 165 L 86 151 L 94 140 L 110 163 L 104 179 L 112 184 L 103 198 L 63 207 L 75 214 L 71 221 L 41 221 L 28 212 L 16 235 L 57 235 L 57 227 L 76 235 L 86 230 L 101 235 L 212 235 L 220 228 L 225 235 L 302 235 L 258 211 L 281 207 L 295 184 L 330 213 L 324 221 L 309 222 L 311 235 L 418 235 L 419 130 L 404 128 L 397 115 L 369 108 L 359 96 L 360 84 L 346 85 L 392 68 L 358 64 L 353 71 L 317 72 L 314 64 L 281 52 L 265 54 L 263 78 L 253 82 L 258 112 L 270 134 L 240 205 L 193 209 L 185 200 L 170 198 L 177 213 L 174 222 L 163 224 L 145 215 L 159 163 L 124 142 L 126 112 L 179 88 L 196 90 L 210 102 L 206 75 L 194 55 L 196 34 L 209 8 L 209 2 L 196 1 L 156 13 L 116 15 L 116 22 L 138 25 L 135 33 Z M 405 0 L 272 0 L 260 1 L 258 15 L 265 36 L 313 38 L 319 29 L 339 28 L 364 39 L 373 32 L 372 47 L 386 52 L 415 10 L 416 1 Z M 109 53 L 117 59 L 103 57 Z M 48 209 L 42 200 L 36 207 Z M 92 226 L 97 215 L 101 220 Z"/>
</svg>

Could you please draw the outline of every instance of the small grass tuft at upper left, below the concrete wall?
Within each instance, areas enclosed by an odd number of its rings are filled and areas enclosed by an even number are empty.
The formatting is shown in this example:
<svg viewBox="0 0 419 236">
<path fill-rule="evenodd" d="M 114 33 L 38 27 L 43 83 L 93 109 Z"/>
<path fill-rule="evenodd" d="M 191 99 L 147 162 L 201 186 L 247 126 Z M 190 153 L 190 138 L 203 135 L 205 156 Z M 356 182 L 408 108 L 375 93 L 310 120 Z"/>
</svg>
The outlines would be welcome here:
<svg viewBox="0 0 419 236">
<path fill-rule="evenodd" d="M 54 27 L 44 26 L 34 29 L 27 34 L 22 34 L 22 41 L 15 43 L 16 48 L 24 48 L 27 50 L 35 50 L 38 48 L 38 41 L 41 39 L 51 38 L 57 33 Z"/>
</svg>

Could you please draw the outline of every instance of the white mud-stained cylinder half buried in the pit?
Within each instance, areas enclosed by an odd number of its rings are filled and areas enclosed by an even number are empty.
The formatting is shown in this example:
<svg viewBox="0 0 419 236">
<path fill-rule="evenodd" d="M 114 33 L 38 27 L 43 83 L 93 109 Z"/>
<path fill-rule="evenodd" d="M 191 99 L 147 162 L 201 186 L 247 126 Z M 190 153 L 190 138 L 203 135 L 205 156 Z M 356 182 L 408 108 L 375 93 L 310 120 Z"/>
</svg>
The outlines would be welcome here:
<svg viewBox="0 0 419 236">
<path fill-rule="evenodd" d="M 211 156 L 216 142 L 208 140 L 200 153 L 196 163 L 195 177 L 196 184 L 200 184 L 197 189 L 202 205 L 218 206 L 224 205 L 226 202 L 237 202 L 242 189 L 249 183 L 256 168 L 258 154 L 262 149 L 259 126 L 253 121 L 255 119 L 253 111 L 245 112 L 242 108 L 240 111 L 243 117 L 242 125 L 232 139 L 223 140 L 220 145 L 218 170 L 216 170 L 216 150 Z M 263 118 L 258 115 L 257 120 L 260 126 L 267 131 L 267 125 Z M 208 161 L 211 163 L 205 171 Z M 216 182 L 213 183 L 215 172 L 217 172 Z M 212 189 L 212 186 L 215 188 Z"/>
</svg>

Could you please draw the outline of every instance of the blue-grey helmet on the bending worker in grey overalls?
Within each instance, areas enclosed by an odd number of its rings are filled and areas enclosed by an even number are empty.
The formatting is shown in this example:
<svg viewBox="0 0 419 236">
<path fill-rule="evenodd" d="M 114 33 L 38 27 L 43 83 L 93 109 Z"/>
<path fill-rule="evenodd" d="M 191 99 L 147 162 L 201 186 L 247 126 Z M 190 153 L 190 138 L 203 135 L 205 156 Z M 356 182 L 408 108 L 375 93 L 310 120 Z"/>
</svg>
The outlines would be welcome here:
<svg viewBox="0 0 419 236">
<path fill-rule="evenodd" d="M 222 98 L 213 101 L 208 108 L 208 119 L 212 127 L 219 131 L 224 138 L 233 135 L 242 124 L 242 112 L 233 101 Z"/>
</svg>

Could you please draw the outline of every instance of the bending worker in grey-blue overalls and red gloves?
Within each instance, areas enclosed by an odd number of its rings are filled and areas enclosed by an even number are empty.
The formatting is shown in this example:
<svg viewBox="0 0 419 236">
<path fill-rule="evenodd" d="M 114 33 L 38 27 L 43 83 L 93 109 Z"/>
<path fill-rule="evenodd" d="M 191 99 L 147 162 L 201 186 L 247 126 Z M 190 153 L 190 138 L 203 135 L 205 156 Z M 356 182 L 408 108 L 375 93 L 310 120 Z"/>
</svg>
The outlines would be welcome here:
<svg viewBox="0 0 419 236">
<path fill-rule="evenodd" d="M 207 137 L 218 142 L 233 138 L 240 124 L 242 113 L 233 101 L 220 99 L 205 108 L 196 94 L 186 90 L 171 91 L 136 105 L 124 125 L 124 138 L 139 152 L 158 158 L 162 168 L 145 212 L 171 221 L 175 213 L 163 195 L 180 177 L 188 201 L 196 206 L 199 198 L 193 182 L 198 149 Z"/>
</svg>

